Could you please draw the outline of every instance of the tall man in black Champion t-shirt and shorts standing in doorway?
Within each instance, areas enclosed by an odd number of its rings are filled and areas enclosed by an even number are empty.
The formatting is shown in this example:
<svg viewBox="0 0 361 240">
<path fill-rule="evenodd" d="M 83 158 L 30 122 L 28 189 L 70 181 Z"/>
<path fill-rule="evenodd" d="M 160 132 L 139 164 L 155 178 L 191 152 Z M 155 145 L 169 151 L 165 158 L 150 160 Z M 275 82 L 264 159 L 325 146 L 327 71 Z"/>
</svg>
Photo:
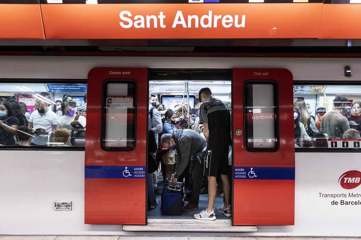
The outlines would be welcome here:
<svg viewBox="0 0 361 240">
<path fill-rule="evenodd" d="M 215 220 L 214 199 L 217 194 L 217 176 L 221 175 L 224 192 L 224 205 L 217 212 L 231 217 L 230 184 L 228 180 L 228 153 L 231 145 L 231 113 L 225 101 L 213 97 L 212 91 L 205 87 L 199 91 L 199 122 L 203 124 L 203 133 L 207 143 L 203 160 L 203 175 L 208 177 L 208 207 L 195 214 L 199 220 Z"/>
</svg>

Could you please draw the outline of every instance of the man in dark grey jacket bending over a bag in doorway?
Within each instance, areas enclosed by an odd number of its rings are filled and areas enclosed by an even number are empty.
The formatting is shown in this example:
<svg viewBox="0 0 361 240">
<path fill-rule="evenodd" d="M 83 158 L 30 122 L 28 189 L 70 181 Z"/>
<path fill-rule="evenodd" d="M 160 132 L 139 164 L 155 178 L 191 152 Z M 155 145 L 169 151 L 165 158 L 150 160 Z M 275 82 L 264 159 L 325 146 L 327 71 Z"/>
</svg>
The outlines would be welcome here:
<svg viewBox="0 0 361 240">
<path fill-rule="evenodd" d="M 182 175 L 184 169 L 187 167 L 189 157 L 191 156 L 191 163 L 194 164 L 192 175 L 193 186 L 189 186 L 190 191 L 186 194 L 188 204 L 183 208 L 184 211 L 191 211 L 198 209 L 199 194 L 202 187 L 202 166 L 201 159 L 198 153 L 201 153 L 206 146 L 206 141 L 199 133 L 190 129 L 179 129 L 172 134 L 166 133 L 161 137 L 161 144 L 165 148 L 177 154 L 177 165 L 175 166 L 175 173 L 171 177 L 171 181 L 175 184 Z"/>
</svg>

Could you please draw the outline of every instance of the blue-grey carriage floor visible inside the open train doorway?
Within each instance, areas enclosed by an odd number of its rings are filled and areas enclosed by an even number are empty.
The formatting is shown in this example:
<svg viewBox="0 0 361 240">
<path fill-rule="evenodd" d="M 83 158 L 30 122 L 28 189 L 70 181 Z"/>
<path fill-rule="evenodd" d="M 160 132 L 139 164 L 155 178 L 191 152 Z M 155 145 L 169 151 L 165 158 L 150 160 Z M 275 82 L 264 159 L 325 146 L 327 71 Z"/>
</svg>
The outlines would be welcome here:
<svg viewBox="0 0 361 240">
<path fill-rule="evenodd" d="M 199 209 L 193 210 L 190 212 L 183 211 L 181 216 L 164 216 L 161 212 L 161 194 L 163 190 L 163 177 L 162 173 L 158 177 L 158 186 L 157 186 L 157 196 L 156 199 L 158 201 L 158 206 L 155 209 L 148 210 L 148 219 L 194 219 L 193 215 L 196 213 L 200 213 L 202 210 L 207 208 L 208 204 L 208 194 L 201 194 L 199 196 Z M 184 206 L 187 205 L 188 202 L 184 203 Z M 223 198 L 216 197 L 214 201 L 214 213 L 216 213 L 217 219 L 231 219 L 229 217 L 224 216 L 221 213 L 216 211 L 217 207 L 220 207 L 223 204 Z"/>
</svg>

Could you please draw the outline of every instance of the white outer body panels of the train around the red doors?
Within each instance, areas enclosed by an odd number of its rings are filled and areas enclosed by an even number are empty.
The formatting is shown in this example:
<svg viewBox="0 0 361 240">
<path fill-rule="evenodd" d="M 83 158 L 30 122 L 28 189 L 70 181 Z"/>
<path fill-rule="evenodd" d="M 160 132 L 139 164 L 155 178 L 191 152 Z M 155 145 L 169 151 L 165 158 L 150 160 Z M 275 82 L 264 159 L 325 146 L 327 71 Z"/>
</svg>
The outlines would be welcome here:
<svg viewBox="0 0 361 240">
<path fill-rule="evenodd" d="M 86 79 L 94 67 L 287 68 L 294 80 L 361 81 L 357 58 L 0 56 L 0 63 L 1 78 Z M 351 66 L 351 78 L 344 77 L 346 65 Z M 0 156 L 0 234 L 149 235 L 124 232 L 120 225 L 84 224 L 84 151 L 0 150 Z M 361 193 L 361 186 L 345 190 L 338 183 L 342 173 L 361 171 L 360 156 L 359 152 L 296 153 L 295 225 L 257 226 L 258 232 L 236 235 L 360 236 L 361 206 L 331 205 L 340 198 L 319 194 Z M 72 201 L 73 209 L 54 211 L 53 202 L 58 200 Z"/>
</svg>

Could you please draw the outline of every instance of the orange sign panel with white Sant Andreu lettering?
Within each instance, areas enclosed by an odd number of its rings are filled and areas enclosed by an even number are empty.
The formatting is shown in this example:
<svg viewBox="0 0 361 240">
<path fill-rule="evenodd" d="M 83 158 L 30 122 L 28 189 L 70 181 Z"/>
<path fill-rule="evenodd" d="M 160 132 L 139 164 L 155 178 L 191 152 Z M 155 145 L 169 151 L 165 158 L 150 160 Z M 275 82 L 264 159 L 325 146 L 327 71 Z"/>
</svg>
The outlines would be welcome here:
<svg viewBox="0 0 361 240">
<path fill-rule="evenodd" d="M 41 4 L 47 39 L 317 38 L 322 6 Z"/>
</svg>

